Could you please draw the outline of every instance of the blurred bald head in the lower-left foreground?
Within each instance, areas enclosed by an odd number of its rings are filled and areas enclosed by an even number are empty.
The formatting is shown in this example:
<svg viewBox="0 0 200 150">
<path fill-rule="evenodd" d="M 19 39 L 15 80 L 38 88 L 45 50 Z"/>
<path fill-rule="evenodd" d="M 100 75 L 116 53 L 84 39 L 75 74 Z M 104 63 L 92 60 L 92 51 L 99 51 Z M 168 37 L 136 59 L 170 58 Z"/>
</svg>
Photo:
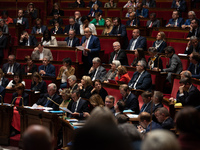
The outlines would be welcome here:
<svg viewBox="0 0 200 150">
<path fill-rule="evenodd" d="M 31 125 L 23 134 L 23 150 L 52 150 L 50 131 L 41 125 Z"/>
</svg>

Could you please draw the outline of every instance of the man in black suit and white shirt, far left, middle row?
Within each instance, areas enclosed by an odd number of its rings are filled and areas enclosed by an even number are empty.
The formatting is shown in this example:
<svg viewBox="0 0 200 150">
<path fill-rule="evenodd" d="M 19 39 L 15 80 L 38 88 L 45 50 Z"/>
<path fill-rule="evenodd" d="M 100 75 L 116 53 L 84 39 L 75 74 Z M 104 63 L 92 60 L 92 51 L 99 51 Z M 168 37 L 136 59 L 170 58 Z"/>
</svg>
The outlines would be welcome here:
<svg viewBox="0 0 200 150">
<path fill-rule="evenodd" d="M 16 61 L 15 55 L 8 56 L 8 63 L 3 64 L 2 70 L 4 74 L 13 75 L 16 72 L 21 71 L 21 65 Z"/>
</svg>

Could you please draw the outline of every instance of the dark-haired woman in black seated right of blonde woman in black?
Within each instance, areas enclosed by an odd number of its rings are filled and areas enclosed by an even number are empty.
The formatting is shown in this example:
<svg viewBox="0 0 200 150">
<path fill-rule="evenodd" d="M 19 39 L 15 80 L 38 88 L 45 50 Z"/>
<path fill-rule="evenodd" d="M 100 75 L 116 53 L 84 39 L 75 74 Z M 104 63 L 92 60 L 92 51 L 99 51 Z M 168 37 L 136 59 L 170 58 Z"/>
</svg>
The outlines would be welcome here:
<svg viewBox="0 0 200 150">
<path fill-rule="evenodd" d="M 91 94 L 99 94 L 103 101 L 105 102 L 105 98 L 108 95 L 108 92 L 102 87 L 101 81 L 99 79 L 96 79 L 94 81 L 94 88 L 91 91 Z"/>
</svg>

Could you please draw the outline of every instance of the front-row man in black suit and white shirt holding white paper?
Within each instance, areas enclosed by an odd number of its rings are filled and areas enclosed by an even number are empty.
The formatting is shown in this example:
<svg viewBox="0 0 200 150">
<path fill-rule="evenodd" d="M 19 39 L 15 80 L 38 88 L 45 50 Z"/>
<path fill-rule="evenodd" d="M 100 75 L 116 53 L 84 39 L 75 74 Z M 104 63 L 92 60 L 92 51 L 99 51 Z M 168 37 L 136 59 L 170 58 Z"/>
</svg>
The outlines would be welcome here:
<svg viewBox="0 0 200 150">
<path fill-rule="evenodd" d="M 71 98 L 74 100 L 74 102 L 72 104 L 72 114 L 70 117 L 82 119 L 84 112 L 89 113 L 88 102 L 80 97 L 80 92 L 78 90 L 72 91 Z"/>
</svg>

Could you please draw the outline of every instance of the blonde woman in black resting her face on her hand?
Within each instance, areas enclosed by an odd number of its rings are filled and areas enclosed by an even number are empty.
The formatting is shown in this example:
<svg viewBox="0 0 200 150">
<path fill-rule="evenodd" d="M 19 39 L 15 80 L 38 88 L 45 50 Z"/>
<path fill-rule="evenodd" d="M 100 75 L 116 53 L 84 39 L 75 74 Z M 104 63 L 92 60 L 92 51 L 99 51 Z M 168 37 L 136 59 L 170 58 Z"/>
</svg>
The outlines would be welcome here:
<svg viewBox="0 0 200 150">
<path fill-rule="evenodd" d="M 89 76 L 83 76 L 81 83 L 78 84 L 78 90 L 80 91 L 80 96 L 82 98 L 89 99 L 92 91 L 92 80 Z"/>
</svg>

